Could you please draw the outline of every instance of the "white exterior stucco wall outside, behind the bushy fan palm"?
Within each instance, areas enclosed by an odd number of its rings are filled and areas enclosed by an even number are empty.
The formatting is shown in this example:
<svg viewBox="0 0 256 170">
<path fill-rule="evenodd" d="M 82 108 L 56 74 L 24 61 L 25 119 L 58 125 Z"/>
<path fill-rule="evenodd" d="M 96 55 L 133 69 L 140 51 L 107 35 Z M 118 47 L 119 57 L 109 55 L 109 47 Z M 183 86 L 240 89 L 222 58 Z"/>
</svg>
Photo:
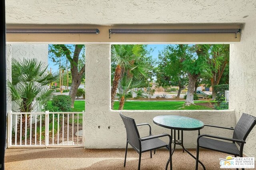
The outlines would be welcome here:
<svg viewBox="0 0 256 170">
<path fill-rule="evenodd" d="M 12 79 L 11 59 L 23 60 L 23 58 L 36 58 L 48 65 L 48 44 L 7 44 L 6 46 L 6 79 Z M 8 91 L 7 91 L 8 93 Z M 7 112 L 18 111 L 17 105 L 11 101 L 9 93 L 7 94 Z"/>
</svg>

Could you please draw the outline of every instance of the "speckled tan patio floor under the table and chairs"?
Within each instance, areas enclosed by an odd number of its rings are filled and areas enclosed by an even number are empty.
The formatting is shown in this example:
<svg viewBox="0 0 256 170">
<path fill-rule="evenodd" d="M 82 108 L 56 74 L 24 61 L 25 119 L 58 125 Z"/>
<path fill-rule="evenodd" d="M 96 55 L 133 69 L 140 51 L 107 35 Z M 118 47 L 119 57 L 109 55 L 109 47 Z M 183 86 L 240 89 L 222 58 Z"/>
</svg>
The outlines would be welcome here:
<svg viewBox="0 0 256 170">
<path fill-rule="evenodd" d="M 195 149 L 190 149 L 196 154 Z M 84 148 L 8 148 L 5 155 L 6 170 L 136 170 L 138 154 L 128 150 L 126 167 L 124 149 Z M 200 160 L 207 170 L 220 169 L 219 158 L 228 154 L 201 150 Z M 195 160 L 186 152 L 176 150 L 173 155 L 174 170 L 193 170 Z M 150 152 L 142 153 L 141 170 L 164 170 L 168 160 L 166 149 L 157 150 L 150 158 Z M 202 166 L 199 166 L 202 169 Z"/>
</svg>

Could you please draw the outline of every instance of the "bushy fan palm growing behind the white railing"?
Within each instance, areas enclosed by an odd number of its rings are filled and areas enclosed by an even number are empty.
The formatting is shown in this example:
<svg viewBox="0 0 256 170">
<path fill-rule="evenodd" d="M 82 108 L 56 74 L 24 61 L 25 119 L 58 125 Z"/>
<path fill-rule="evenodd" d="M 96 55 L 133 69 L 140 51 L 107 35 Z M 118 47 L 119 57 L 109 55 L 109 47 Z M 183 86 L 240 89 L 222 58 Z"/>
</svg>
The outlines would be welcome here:
<svg viewBox="0 0 256 170">
<path fill-rule="evenodd" d="M 54 90 L 47 85 L 56 80 L 57 74 L 48 73 L 47 65 L 37 59 L 12 59 L 12 82 L 7 80 L 12 101 L 18 105 L 20 112 L 32 112 L 34 109 L 42 109 L 42 106 L 50 100 Z M 27 118 L 28 120 L 30 117 Z M 22 124 L 25 116 L 22 116 Z M 22 125 L 24 135 L 25 126 Z"/>
</svg>

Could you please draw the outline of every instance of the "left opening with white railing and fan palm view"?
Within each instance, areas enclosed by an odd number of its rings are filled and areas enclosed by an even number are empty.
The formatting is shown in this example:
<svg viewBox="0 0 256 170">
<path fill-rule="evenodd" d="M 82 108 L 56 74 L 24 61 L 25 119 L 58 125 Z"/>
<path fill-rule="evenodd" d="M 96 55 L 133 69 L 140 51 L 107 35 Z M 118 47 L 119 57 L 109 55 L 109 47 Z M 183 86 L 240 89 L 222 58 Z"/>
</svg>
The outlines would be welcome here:
<svg viewBox="0 0 256 170">
<path fill-rule="evenodd" d="M 8 45 L 8 146 L 81 146 L 85 45 Z"/>
</svg>

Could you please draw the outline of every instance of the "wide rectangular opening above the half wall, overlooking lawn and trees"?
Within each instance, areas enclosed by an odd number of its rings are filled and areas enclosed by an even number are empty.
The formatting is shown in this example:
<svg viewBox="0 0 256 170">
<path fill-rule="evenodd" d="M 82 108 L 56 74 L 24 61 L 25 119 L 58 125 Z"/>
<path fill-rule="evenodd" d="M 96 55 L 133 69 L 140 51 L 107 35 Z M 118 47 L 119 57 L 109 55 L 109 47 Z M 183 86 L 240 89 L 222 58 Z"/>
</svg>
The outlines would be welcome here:
<svg viewBox="0 0 256 170">
<path fill-rule="evenodd" d="M 111 109 L 228 109 L 229 44 L 111 46 Z"/>
</svg>

